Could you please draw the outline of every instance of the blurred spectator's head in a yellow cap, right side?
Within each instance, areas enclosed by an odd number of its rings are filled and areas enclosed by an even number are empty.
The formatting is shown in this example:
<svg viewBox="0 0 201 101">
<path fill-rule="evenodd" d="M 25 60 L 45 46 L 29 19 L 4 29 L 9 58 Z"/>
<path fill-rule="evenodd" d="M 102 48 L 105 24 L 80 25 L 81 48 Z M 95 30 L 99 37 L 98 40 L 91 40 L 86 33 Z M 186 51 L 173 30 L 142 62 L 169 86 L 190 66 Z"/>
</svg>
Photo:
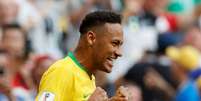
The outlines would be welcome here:
<svg viewBox="0 0 201 101">
<path fill-rule="evenodd" d="M 191 46 L 169 47 L 166 53 L 172 60 L 172 73 L 175 77 L 180 73 L 187 75 L 198 68 L 200 53 Z"/>
</svg>

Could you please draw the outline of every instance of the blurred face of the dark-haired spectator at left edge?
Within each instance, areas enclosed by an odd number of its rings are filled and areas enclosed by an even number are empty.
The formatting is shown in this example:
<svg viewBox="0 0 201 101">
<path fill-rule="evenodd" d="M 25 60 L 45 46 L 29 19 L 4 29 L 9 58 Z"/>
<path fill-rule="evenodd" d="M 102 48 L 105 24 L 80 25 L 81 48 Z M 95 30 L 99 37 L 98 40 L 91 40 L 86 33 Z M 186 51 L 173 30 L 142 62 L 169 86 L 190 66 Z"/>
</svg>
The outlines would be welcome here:
<svg viewBox="0 0 201 101">
<path fill-rule="evenodd" d="M 8 29 L 4 32 L 2 39 L 3 48 L 11 55 L 21 56 L 24 53 L 25 38 L 22 31 Z"/>
</svg>

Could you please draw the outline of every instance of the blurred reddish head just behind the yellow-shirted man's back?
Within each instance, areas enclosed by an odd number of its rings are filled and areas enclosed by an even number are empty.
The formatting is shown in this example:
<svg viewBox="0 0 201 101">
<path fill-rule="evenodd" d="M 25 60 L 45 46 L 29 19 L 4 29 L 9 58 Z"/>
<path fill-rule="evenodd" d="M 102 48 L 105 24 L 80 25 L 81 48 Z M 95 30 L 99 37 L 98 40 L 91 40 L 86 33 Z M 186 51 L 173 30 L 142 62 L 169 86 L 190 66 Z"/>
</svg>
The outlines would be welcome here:
<svg viewBox="0 0 201 101">
<path fill-rule="evenodd" d="M 54 59 L 48 55 L 38 56 L 33 61 L 32 78 L 36 86 L 39 85 L 43 73 L 54 62 Z"/>
</svg>

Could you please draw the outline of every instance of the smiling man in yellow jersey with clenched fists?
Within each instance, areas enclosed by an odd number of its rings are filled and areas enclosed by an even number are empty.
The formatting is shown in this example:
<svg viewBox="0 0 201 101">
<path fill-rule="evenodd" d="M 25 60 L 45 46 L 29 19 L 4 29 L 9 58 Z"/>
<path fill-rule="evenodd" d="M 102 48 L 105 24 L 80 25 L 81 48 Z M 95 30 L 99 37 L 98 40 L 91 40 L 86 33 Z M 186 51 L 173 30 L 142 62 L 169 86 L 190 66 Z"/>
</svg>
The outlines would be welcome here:
<svg viewBox="0 0 201 101">
<path fill-rule="evenodd" d="M 54 63 L 43 75 L 36 101 L 127 101 L 127 88 L 114 97 L 95 86 L 94 73 L 110 73 L 113 61 L 121 56 L 121 16 L 110 11 L 88 14 L 79 29 L 81 36 L 74 52 Z"/>
</svg>

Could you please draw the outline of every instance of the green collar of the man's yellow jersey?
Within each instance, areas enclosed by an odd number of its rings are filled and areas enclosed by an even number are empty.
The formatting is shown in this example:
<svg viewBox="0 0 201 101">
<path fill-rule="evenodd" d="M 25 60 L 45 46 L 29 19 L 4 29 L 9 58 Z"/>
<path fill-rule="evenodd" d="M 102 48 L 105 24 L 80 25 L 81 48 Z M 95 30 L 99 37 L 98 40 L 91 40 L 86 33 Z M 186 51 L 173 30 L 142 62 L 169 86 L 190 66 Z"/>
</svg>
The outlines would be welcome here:
<svg viewBox="0 0 201 101">
<path fill-rule="evenodd" d="M 73 52 L 68 52 L 68 56 L 76 63 L 76 65 L 82 69 L 83 71 L 87 72 L 87 69 L 82 66 L 79 61 L 76 59 L 75 55 L 73 54 Z"/>
</svg>

